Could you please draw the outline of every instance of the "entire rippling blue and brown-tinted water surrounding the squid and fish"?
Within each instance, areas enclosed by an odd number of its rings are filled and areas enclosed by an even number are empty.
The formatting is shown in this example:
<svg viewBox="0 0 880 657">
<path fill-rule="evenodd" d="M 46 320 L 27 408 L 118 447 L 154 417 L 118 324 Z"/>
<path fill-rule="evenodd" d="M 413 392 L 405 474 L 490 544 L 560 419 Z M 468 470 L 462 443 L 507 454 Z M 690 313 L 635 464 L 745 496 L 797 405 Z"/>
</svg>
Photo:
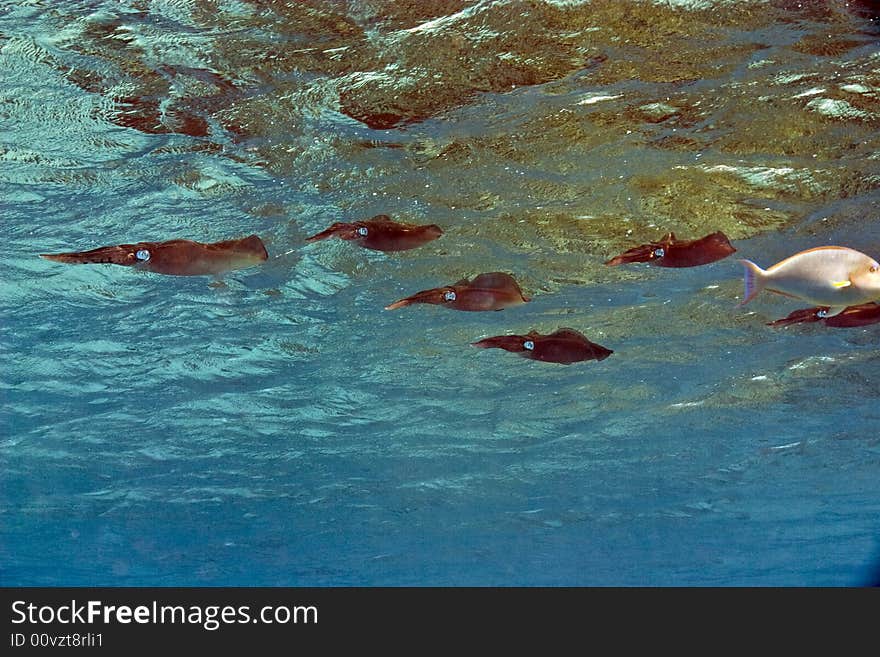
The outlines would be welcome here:
<svg viewBox="0 0 880 657">
<path fill-rule="evenodd" d="M 0 4 L 0 583 L 854 585 L 877 325 L 736 257 L 874 257 L 869 3 Z M 419 249 L 305 244 L 375 214 Z M 692 269 L 602 263 L 723 230 Z M 209 278 L 39 253 L 257 233 Z M 482 271 L 497 313 L 389 302 Z M 469 343 L 570 326 L 614 350 Z"/>
</svg>

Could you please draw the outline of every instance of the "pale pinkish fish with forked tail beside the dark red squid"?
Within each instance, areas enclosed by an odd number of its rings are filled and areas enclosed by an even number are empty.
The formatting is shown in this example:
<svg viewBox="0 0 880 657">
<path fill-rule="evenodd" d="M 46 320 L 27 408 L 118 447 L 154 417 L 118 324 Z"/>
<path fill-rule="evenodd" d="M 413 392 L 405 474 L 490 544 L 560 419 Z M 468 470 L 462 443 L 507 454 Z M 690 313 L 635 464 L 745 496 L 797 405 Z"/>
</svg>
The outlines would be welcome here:
<svg viewBox="0 0 880 657">
<path fill-rule="evenodd" d="M 768 269 L 750 260 L 745 267 L 745 295 L 741 306 L 761 290 L 827 306 L 822 317 L 834 317 L 848 306 L 880 299 L 880 264 L 860 251 L 843 246 L 807 249 Z"/>
</svg>

